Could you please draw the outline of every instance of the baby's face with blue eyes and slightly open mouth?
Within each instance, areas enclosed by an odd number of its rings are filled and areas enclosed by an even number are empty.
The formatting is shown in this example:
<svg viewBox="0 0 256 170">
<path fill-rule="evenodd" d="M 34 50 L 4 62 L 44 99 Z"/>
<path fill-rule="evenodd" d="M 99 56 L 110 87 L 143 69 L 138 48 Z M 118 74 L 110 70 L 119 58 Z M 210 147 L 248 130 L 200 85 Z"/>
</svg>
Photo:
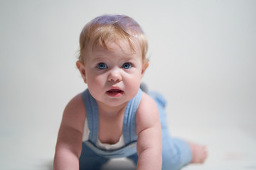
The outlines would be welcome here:
<svg viewBox="0 0 256 170">
<path fill-rule="evenodd" d="M 139 91 L 142 81 L 142 52 L 138 42 L 134 50 L 125 40 L 108 42 L 109 50 L 95 45 L 85 59 L 85 81 L 90 94 L 107 106 L 128 102 Z"/>
</svg>

